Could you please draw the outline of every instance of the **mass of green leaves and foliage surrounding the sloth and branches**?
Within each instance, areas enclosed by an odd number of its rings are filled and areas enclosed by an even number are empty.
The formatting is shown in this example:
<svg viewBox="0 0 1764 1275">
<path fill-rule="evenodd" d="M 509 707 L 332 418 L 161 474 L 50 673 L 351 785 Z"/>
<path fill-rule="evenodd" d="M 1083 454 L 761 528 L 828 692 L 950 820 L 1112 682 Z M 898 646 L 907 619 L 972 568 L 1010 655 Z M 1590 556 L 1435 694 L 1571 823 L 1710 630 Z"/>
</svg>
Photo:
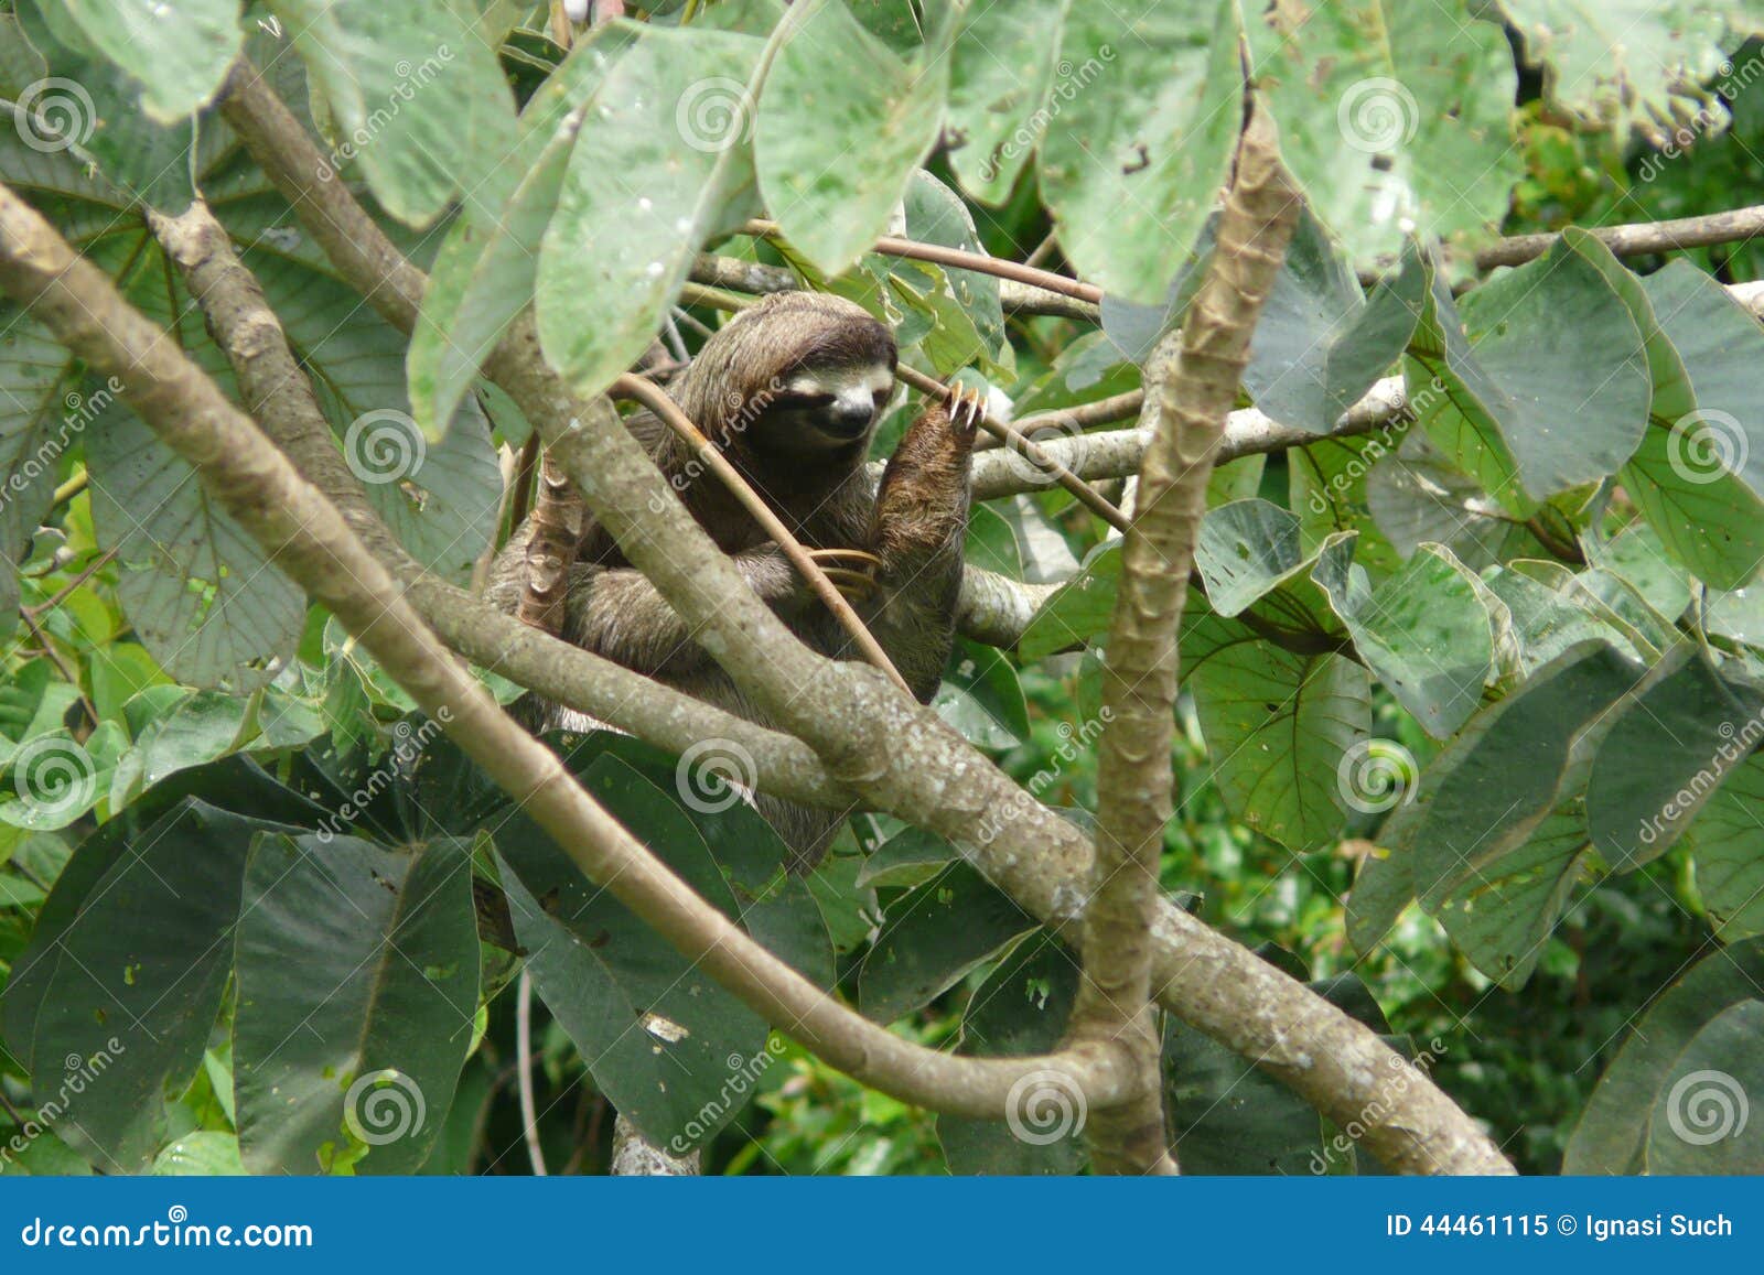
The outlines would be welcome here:
<svg viewBox="0 0 1764 1275">
<path fill-rule="evenodd" d="M 1475 270 L 1498 233 L 1755 199 L 1764 12 L 1614 5 L 1619 85 L 1596 23 L 1535 0 L 1134 7 L 1129 28 L 1083 0 L 632 5 L 566 56 L 543 11 L 494 0 L 189 0 L 175 23 L 18 0 L 0 180 L 231 393 L 146 219 L 201 192 L 374 508 L 467 580 L 529 434 L 482 354 L 534 305 L 598 393 L 658 328 L 697 346 L 720 323 L 679 303 L 704 249 L 857 300 L 905 362 L 1018 416 L 1136 388 L 1212 249 L 1247 39 L 1309 212 L 1242 406 L 1311 437 L 1212 481 L 1162 884 L 1526 1171 L 1764 1171 L 1764 1120 L 1683 1136 L 1697 1076 L 1764 1100 L 1764 326 L 1725 287 L 1764 254 L 1619 261 L 1570 231 Z M 430 272 L 413 339 L 219 118 L 240 53 Z M 1104 289 L 1101 324 L 870 252 L 896 212 L 1018 261 L 1055 236 L 1044 265 Z M 741 235 L 755 215 L 781 238 Z M 1390 376 L 1411 418 L 1337 434 Z M 1060 589 L 1014 649 L 961 640 L 937 711 L 1083 825 L 1118 540 L 1028 487 L 975 508 L 968 557 Z M 16 307 L 0 497 L 0 1171 L 526 1173 L 522 1007 L 554 1173 L 607 1167 L 614 1109 L 707 1173 L 1083 1167 L 1076 1136 L 937 1120 L 769 1033 Z M 859 815 L 792 878 L 676 758 L 550 742 L 864 1014 L 965 1053 L 1058 1044 L 1071 954 L 954 846 Z M 1175 1019 L 1164 1076 L 1185 1171 L 1381 1171 Z"/>
</svg>

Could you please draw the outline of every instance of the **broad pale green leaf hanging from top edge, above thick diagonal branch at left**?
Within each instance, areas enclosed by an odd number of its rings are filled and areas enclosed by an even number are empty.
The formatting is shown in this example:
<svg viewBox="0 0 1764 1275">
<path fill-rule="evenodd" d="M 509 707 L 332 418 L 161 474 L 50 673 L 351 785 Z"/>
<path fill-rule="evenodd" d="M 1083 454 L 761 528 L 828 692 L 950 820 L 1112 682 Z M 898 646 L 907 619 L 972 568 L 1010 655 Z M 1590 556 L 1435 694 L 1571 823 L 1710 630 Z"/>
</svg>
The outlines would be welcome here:
<svg viewBox="0 0 1764 1275">
<path fill-rule="evenodd" d="M 332 169 L 360 159 L 386 212 L 427 226 L 515 136 L 473 0 L 272 0 L 335 122 Z"/>
</svg>

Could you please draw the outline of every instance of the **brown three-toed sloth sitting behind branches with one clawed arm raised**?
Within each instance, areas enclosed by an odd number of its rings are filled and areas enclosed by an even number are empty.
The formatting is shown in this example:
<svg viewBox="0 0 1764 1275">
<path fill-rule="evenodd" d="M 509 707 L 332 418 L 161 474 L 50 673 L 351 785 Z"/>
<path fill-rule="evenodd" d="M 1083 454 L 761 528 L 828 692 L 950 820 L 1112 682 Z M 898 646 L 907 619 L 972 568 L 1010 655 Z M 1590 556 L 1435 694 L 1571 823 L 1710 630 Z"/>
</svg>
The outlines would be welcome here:
<svg viewBox="0 0 1764 1275">
<path fill-rule="evenodd" d="M 928 702 L 954 640 L 975 411 L 926 404 L 877 485 L 864 460 L 894 390 L 894 365 L 893 335 L 863 307 L 824 293 L 778 293 L 706 340 L 670 393 L 804 547 L 873 555 L 863 573 L 850 570 L 856 555 L 829 552 L 824 563 Z M 778 617 L 822 654 L 857 658 L 845 630 L 690 446 L 647 411 L 626 425 Z M 492 598 L 506 610 L 519 601 L 526 536 L 524 527 L 492 575 Z M 570 577 L 563 637 L 769 725 L 593 518 Z M 589 725 L 557 709 L 540 718 L 547 727 Z M 790 845 L 797 871 L 820 859 L 841 820 L 776 797 L 757 804 Z"/>
</svg>

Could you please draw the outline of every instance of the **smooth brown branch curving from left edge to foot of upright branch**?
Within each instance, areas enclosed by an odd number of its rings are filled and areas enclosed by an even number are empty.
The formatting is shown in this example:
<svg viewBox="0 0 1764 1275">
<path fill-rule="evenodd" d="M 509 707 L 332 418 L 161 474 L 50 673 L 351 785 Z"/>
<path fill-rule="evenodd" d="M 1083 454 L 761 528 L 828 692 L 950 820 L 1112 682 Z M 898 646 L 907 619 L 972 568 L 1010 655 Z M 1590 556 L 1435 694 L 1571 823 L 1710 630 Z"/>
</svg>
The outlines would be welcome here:
<svg viewBox="0 0 1764 1275">
<path fill-rule="evenodd" d="M 1085 1042 L 1043 1058 L 984 1060 L 916 1046 L 840 1005 L 706 903 L 497 707 L 256 423 L 5 187 L 0 287 L 92 369 L 122 381 L 136 413 L 270 561 L 328 607 L 591 880 L 769 1023 L 859 1081 L 933 1111 L 1002 1118 L 1020 1100 L 1020 1081 L 1041 1070 L 1067 1074 L 1092 1102 L 1118 1100 L 1125 1069 L 1113 1049 Z"/>
</svg>

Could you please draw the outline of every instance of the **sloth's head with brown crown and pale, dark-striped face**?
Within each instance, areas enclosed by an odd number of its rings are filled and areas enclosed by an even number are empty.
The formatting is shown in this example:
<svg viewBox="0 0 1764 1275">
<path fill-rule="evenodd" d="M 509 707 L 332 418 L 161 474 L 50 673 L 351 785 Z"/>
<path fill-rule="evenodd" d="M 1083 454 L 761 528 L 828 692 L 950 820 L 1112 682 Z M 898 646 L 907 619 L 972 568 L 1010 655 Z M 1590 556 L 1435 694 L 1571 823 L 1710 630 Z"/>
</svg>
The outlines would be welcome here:
<svg viewBox="0 0 1764 1275">
<path fill-rule="evenodd" d="M 894 363 L 894 337 L 861 305 L 776 293 L 704 344 L 679 399 L 723 446 L 769 460 L 863 459 Z"/>
</svg>

